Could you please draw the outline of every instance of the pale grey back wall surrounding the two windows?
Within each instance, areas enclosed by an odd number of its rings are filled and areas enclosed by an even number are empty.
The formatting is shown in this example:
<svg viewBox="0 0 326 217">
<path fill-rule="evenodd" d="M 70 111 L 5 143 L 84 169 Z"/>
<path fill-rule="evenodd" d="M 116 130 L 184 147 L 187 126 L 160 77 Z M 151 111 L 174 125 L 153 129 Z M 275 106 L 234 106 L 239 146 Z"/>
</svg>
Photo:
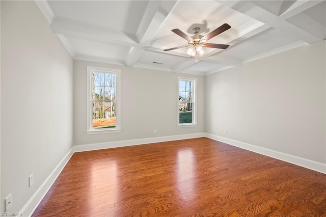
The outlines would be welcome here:
<svg viewBox="0 0 326 217">
<path fill-rule="evenodd" d="M 86 133 L 87 66 L 121 70 L 121 132 Z M 197 127 L 177 127 L 177 76 L 198 78 Z M 204 132 L 204 76 L 74 60 L 73 120 L 74 145 Z"/>
</svg>

